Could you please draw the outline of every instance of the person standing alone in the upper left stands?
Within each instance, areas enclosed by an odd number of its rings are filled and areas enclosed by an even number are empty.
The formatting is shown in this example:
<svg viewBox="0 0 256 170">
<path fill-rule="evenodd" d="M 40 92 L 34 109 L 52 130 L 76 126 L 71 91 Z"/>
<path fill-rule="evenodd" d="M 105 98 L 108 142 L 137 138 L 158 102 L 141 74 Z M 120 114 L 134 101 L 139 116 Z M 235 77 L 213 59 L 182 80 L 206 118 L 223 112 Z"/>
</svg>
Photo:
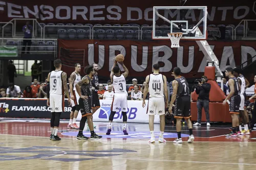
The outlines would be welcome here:
<svg viewBox="0 0 256 170">
<path fill-rule="evenodd" d="M 26 22 L 26 25 L 23 26 L 22 31 L 24 32 L 24 40 L 23 40 L 23 47 L 22 47 L 22 53 L 25 53 L 25 48 L 28 44 L 28 49 L 27 49 L 27 53 L 29 54 L 30 51 L 30 46 L 31 46 L 31 38 L 32 38 L 32 31 L 33 31 L 33 27 L 31 25 L 29 25 L 29 21 Z"/>
</svg>

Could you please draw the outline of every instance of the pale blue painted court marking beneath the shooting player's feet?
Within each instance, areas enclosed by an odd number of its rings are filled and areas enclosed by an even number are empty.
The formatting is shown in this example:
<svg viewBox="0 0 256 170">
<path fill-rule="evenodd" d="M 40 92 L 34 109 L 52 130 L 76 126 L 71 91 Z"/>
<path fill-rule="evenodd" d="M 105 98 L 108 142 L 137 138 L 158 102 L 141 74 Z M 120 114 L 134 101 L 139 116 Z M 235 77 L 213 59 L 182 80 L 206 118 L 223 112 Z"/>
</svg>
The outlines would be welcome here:
<svg viewBox="0 0 256 170">
<path fill-rule="evenodd" d="M 134 131 L 131 131 L 131 132 L 128 132 L 129 135 L 124 135 L 123 132 L 115 132 L 115 131 L 112 131 L 110 135 L 106 135 L 106 132 L 95 132 L 97 133 L 97 135 L 101 135 L 102 138 L 134 138 L 134 139 L 138 139 L 138 138 L 141 138 L 141 139 L 147 139 L 147 138 L 150 138 L 150 132 L 134 132 Z M 77 136 L 78 132 L 64 132 L 64 133 L 61 133 L 62 135 L 65 135 L 65 136 Z M 87 136 L 87 137 L 90 137 L 91 136 L 91 133 L 90 132 L 83 132 L 83 135 L 84 136 Z M 160 135 L 159 132 L 155 132 L 155 137 L 158 137 Z M 164 138 L 177 138 L 177 133 L 167 133 L 167 132 L 164 132 L 163 134 Z M 181 137 L 188 137 L 189 135 L 187 134 L 181 134 Z"/>
</svg>

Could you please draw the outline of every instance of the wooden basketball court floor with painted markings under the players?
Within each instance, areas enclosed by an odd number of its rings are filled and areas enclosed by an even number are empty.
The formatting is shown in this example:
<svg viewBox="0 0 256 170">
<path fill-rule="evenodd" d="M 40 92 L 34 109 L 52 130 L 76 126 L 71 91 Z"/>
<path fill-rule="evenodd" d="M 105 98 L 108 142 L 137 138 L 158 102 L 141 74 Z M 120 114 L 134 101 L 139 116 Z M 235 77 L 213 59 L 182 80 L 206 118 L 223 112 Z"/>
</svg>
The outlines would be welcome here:
<svg viewBox="0 0 256 170">
<path fill-rule="evenodd" d="M 175 127 L 166 125 L 166 143 L 148 143 L 147 124 L 129 124 L 129 135 L 114 124 L 104 135 L 106 123 L 95 123 L 98 140 L 78 140 L 77 130 L 61 122 L 60 141 L 49 140 L 49 120 L 0 121 L 0 169 L 255 169 L 256 133 L 236 138 L 223 136 L 228 126 L 194 128 L 194 143 L 174 144 Z M 90 137 L 90 132 L 84 131 Z M 155 125 L 158 139 L 159 125 Z"/>
</svg>

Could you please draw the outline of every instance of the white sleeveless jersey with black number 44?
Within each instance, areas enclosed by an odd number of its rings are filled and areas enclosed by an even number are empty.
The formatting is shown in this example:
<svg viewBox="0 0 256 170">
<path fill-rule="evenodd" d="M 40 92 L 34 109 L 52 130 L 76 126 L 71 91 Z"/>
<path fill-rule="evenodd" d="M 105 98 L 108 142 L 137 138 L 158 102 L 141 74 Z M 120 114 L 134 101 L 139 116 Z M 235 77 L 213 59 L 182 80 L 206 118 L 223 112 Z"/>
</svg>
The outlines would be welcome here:
<svg viewBox="0 0 256 170">
<path fill-rule="evenodd" d="M 164 82 L 163 82 L 163 75 L 158 74 L 150 75 L 150 80 L 148 81 L 148 89 L 150 92 L 150 98 L 162 98 L 164 97 Z"/>
</svg>

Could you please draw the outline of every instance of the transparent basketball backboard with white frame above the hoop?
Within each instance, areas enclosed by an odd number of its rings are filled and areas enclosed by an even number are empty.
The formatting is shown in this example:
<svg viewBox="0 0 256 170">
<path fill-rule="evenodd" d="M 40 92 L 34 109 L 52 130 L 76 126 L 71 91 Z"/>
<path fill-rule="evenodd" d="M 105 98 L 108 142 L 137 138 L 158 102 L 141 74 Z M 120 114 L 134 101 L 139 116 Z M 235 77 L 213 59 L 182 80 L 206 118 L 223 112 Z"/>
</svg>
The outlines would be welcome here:
<svg viewBox="0 0 256 170">
<path fill-rule="evenodd" d="M 152 39 L 169 39 L 168 33 L 182 32 L 181 39 L 206 40 L 206 6 L 153 7 Z"/>
</svg>

